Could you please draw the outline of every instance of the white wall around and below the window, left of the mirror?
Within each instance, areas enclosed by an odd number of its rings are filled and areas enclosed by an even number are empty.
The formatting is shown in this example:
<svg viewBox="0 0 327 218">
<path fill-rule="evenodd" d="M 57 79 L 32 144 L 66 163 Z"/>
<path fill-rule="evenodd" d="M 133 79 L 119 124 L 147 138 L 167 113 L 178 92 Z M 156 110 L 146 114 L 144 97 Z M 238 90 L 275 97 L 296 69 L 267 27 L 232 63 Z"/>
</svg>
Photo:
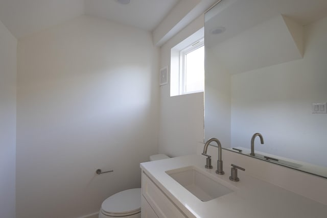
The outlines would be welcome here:
<svg viewBox="0 0 327 218">
<path fill-rule="evenodd" d="M 204 16 L 161 46 L 161 67 L 170 66 L 172 47 L 203 28 Z M 203 92 L 170 96 L 169 85 L 160 86 L 159 153 L 172 157 L 195 154 L 203 143 Z"/>
</svg>

